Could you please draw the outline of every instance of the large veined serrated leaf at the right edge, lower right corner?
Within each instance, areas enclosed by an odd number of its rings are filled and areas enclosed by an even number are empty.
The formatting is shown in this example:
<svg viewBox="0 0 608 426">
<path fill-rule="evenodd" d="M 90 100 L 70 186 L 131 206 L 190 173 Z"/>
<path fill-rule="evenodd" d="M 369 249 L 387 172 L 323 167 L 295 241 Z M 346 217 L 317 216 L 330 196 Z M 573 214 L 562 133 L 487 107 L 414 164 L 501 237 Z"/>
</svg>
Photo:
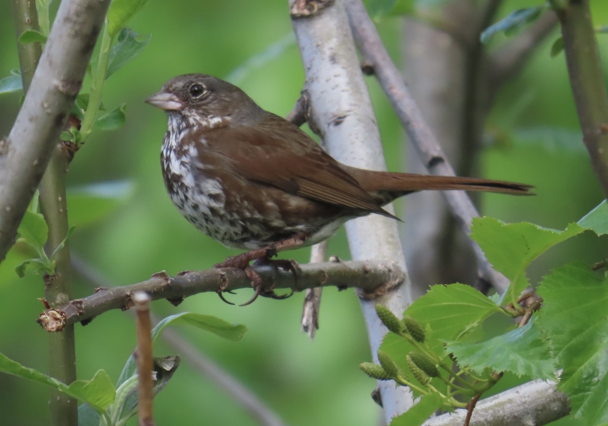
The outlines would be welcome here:
<svg viewBox="0 0 608 426">
<path fill-rule="evenodd" d="M 558 368 L 558 389 L 575 418 L 608 422 L 608 277 L 582 263 L 554 269 L 538 289 L 544 299 L 537 325 Z"/>
</svg>

